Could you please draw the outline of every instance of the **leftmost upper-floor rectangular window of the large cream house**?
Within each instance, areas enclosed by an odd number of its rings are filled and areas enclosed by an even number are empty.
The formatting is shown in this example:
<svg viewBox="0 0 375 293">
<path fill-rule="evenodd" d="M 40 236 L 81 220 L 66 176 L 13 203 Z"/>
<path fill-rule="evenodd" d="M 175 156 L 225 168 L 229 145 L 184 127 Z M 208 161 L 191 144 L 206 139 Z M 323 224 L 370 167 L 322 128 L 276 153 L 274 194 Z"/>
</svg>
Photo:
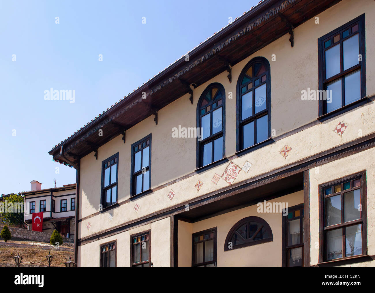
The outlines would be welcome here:
<svg viewBox="0 0 375 293">
<path fill-rule="evenodd" d="M 103 208 L 117 203 L 118 153 L 102 161 Z"/>
</svg>

